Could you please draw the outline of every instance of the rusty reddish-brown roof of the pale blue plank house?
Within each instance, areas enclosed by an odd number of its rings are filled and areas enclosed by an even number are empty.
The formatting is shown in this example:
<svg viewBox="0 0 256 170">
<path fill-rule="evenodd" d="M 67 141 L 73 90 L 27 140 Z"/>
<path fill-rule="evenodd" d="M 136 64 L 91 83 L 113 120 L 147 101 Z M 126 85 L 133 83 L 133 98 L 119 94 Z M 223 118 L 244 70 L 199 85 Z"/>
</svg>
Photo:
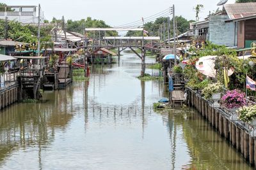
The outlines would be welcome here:
<svg viewBox="0 0 256 170">
<path fill-rule="evenodd" d="M 244 18 L 256 15 L 256 3 L 225 4 L 224 8 L 230 19 Z"/>
</svg>

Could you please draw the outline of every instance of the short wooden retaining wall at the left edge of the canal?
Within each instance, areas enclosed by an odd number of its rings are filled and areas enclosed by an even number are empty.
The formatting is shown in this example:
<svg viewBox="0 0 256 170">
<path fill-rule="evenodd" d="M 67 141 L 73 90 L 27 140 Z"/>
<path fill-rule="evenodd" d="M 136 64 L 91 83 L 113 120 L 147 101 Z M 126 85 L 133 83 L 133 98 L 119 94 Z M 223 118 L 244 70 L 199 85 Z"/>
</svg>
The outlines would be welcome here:
<svg viewBox="0 0 256 170">
<path fill-rule="evenodd" d="M 0 109 L 6 108 L 19 100 L 19 85 L 13 85 L 0 91 Z"/>
</svg>

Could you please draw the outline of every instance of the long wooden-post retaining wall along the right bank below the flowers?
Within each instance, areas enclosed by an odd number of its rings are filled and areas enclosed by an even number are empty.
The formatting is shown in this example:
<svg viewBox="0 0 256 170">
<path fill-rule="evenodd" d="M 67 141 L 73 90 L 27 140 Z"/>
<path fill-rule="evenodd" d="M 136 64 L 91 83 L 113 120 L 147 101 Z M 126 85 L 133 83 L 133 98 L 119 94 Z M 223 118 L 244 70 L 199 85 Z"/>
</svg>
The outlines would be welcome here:
<svg viewBox="0 0 256 170">
<path fill-rule="evenodd" d="M 189 104 L 226 138 L 237 152 L 240 152 L 252 166 L 256 167 L 256 138 L 250 136 L 248 129 L 239 122 L 230 120 L 230 116 L 220 108 L 212 108 L 211 103 L 195 91 L 188 89 Z"/>
</svg>

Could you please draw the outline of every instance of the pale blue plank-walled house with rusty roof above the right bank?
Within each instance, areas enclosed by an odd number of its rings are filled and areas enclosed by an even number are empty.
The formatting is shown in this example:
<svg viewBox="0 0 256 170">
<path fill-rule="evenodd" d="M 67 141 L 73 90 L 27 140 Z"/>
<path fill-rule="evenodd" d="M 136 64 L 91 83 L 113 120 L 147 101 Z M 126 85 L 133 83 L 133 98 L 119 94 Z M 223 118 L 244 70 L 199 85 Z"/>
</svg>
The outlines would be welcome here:
<svg viewBox="0 0 256 170">
<path fill-rule="evenodd" d="M 248 48 L 256 41 L 256 3 L 224 4 L 223 10 L 191 24 L 198 41 Z"/>
</svg>

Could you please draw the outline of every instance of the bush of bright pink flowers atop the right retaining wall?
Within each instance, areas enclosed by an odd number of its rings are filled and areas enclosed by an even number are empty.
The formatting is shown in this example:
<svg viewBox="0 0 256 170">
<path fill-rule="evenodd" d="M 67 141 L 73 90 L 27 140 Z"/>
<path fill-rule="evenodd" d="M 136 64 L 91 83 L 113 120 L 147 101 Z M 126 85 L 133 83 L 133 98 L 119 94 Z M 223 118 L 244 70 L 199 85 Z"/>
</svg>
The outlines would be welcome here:
<svg viewBox="0 0 256 170">
<path fill-rule="evenodd" d="M 241 108 L 246 105 L 244 92 L 230 90 L 221 98 L 221 104 L 228 109 Z"/>
</svg>

